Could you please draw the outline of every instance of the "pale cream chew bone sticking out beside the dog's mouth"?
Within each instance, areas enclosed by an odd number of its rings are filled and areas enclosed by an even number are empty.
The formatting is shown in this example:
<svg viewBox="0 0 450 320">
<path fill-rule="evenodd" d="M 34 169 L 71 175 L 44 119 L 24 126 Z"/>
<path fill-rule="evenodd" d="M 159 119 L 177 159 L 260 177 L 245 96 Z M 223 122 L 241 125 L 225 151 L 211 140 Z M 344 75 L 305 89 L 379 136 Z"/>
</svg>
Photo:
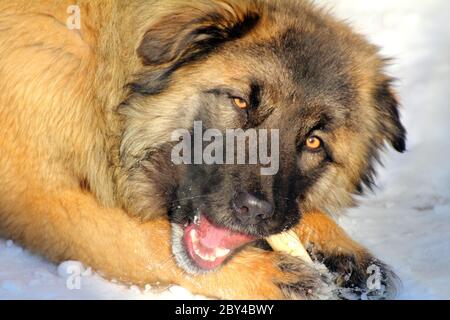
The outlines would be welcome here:
<svg viewBox="0 0 450 320">
<path fill-rule="evenodd" d="M 313 263 L 311 257 L 294 231 L 287 231 L 270 236 L 266 238 L 266 240 L 275 251 L 290 254 L 310 264 Z"/>
</svg>

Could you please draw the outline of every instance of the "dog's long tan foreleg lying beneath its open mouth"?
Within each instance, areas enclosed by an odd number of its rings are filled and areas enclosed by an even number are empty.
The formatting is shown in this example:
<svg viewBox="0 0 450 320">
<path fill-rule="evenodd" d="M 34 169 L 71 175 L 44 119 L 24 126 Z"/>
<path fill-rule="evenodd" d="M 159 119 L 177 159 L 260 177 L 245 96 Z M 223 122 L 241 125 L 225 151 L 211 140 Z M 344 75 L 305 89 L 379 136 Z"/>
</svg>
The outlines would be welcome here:
<svg viewBox="0 0 450 320">
<path fill-rule="evenodd" d="M 142 223 L 99 206 L 81 190 L 33 190 L 16 198 L 10 194 L 0 229 L 55 262 L 79 260 L 125 283 L 179 284 L 225 299 L 319 298 L 326 287 L 300 260 L 258 249 L 241 251 L 217 272 L 188 275 L 172 256 L 165 218 Z"/>
</svg>

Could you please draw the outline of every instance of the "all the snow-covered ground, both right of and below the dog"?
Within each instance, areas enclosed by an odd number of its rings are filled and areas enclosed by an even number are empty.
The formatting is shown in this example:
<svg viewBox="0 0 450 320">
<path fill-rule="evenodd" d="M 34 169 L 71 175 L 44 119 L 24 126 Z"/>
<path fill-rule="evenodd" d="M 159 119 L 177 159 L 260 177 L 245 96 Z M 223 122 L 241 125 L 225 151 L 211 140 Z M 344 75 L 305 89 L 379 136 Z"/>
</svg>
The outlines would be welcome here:
<svg viewBox="0 0 450 320">
<path fill-rule="evenodd" d="M 392 265 L 399 298 L 450 299 L 450 1 L 317 0 L 394 57 L 408 152 L 390 151 L 375 194 L 340 219 Z M 81 272 L 81 289 L 77 275 Z M 69 288 L 72 288 L 69 289 Z M 155 292 L 106 281 L 77 263 L 55 266 L 0 240 L 0 299 L 196 298 L 174 287 Z"/>
</svg>

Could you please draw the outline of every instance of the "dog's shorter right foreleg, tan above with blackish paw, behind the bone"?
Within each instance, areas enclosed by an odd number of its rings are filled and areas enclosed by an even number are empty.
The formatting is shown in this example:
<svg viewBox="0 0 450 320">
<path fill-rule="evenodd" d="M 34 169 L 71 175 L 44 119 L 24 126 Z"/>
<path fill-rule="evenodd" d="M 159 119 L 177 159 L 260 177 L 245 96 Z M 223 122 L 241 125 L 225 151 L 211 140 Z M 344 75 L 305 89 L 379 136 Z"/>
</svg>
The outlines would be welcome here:
<svg viewBox="0 0 450 320">
<path fill-rule="evenodd" d="M 341 297 L 387 299 L 395 295 L 398 284 L 395 274 L 328 215 L 307 213 L 296 231 L 313 258 L 336 275 Z"/>
</svg>

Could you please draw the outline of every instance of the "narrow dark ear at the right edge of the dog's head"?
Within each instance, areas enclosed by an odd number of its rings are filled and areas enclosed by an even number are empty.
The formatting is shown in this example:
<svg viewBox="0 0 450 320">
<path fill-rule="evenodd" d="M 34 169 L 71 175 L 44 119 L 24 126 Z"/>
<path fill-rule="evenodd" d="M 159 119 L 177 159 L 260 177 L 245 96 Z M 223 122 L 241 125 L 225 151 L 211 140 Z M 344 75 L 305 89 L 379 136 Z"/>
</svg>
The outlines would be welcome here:
<svg viewBox="0 0 450 320">
<path fill-rule="evenodd" d="M 375 101 L 384 137 L 398 152 L 406 150 L 406 130 L 400 121 L 399 102 L 391 86 L 392 80 L 383 80 L 376 88 Z"/>
</svg>

